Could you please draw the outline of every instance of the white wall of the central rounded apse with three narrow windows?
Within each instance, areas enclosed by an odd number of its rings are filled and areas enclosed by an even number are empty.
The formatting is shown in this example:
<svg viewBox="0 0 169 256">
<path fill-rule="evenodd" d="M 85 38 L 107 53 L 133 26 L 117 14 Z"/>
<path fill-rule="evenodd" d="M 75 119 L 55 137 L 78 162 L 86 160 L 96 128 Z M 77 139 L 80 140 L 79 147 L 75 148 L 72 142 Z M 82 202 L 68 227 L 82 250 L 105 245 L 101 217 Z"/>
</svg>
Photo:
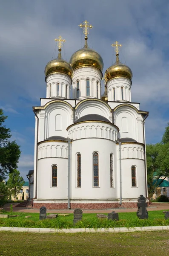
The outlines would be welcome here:
<svg viewBox="0 0 169 256">
<path fill-rule="evenodd" d="M 99 187 L 93 186 L 93 153 L 99 154 Z M 76 157 L 81 154 L 81 188 L 77 188 Z M 110 154 L 113 154 L 114 188 L 110 186 Z M 81 139 L 72 143 L 72 200 L 117 198 L 116 144 L 103 139 Z"/>
</svg>

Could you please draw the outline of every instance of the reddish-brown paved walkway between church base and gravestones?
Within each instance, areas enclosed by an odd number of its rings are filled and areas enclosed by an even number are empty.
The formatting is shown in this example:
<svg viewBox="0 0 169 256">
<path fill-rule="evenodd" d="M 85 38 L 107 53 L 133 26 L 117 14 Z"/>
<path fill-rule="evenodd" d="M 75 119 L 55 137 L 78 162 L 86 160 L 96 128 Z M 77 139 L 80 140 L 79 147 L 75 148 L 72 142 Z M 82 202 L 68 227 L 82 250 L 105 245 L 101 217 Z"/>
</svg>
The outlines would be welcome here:
<svg viewBox="0 0 169 256">
<path fill-rule="evenodd" d="M 10 205 L 11 204 L 6 204 L 3 208 L 10 212 Z M 16 203 L 12 203 L 13 206 L 13 211 L 14 212 L 39 212 L 39 209 L 34 209 L 31 206 L 29 207 L 16 207 Z M 136 212 L 137 208 L 133 209 L 126 209 L 126 208 L 115 208 L 115 209 L 103 209 L 103 210 L 84 210 L 83 213 L 109 213 L 112 212 L 112 210 L 115 210 L 115 212 Z M 150 207 L 147 207 L 148 211 L 157 211 L 157 210 L 169 210 L 169 203 L 152 203 Z M 65 210 L 60 210 L 60 209 L 55 209 L 55 210 L 47 210 L 50 213 L 73 213 L 74 209 L 65 209 Z"/>
</svg>

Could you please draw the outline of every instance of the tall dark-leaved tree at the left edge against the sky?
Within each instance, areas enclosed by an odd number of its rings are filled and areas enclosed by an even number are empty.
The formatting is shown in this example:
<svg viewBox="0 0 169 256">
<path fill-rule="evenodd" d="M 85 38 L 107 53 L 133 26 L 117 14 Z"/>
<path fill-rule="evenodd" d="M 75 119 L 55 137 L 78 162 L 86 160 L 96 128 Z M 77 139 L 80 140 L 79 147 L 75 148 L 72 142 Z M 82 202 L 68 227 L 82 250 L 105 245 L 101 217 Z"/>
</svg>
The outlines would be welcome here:
<svg viewBox="0 0 169 256">
<path fill-rule="evenodd" d="M 4 116 L 0 109 L 0 181 L 17 168 L 20 157 L 20 146 L 15 141 L 9 140 L 11 131 L 4 125 L 6 118 L 7 116 Z"/>
</svg>

